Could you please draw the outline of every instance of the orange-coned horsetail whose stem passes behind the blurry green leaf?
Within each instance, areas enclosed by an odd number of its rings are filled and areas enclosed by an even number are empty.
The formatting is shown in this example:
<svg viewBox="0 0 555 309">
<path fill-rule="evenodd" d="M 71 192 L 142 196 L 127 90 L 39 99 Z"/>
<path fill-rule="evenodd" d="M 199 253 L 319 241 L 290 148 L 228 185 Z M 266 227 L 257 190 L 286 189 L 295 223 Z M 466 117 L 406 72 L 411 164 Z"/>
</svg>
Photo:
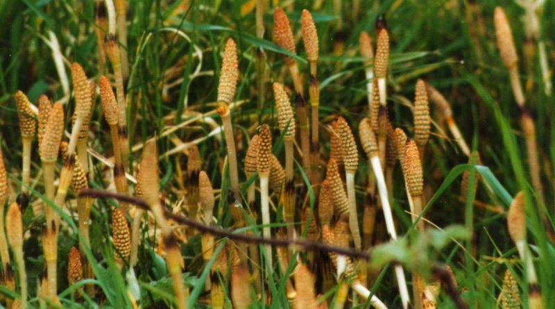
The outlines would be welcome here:
<svg viewBox="0 0 555 309">
<path fill-rule="evenodd" d="M 423 193 L 424 193 L 424 180 L 422 163 L 420 162 L 420 153 L 418 147 L 413 139 L 408 138 L 404 147 L 404 161 L 403 174 L 407 181 L 407 188 L 413 203 L 413 210 L 411 214 L 412 222 L 416 222 L 418 216 L 422 212 L 423 206 Z M 418 219 L 416 229 L 420 232 L 424 231 L 424 221 L 422 218 Z M 416 306 L 422 304 L 422 292 L 424 292 L 424 281 L 422 278 L 413 272 L 413 296 Z"/>
</svg>

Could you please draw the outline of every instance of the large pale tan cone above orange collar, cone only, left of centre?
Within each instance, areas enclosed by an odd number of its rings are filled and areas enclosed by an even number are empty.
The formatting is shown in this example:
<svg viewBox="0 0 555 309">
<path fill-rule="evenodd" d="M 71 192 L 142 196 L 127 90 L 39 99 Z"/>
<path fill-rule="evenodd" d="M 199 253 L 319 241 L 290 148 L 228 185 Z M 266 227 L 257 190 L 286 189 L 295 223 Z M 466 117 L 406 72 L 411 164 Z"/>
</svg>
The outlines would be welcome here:
<svg viewBox="0 0 555 309">
<path fill-rule="evenodd" d="M 235 97 L 237 81 L 239 80 L 239 61 L 237 60 L 237 45 L 232 38 L 228 39 L 223 49 L 220 82 L 218 84 L 218 104 L 231 103 Z M 222 108 L 220 115 L 225 115 L 228 110 Z M 220 112 L 220 110 L 219 110 Z"/>
</svg>

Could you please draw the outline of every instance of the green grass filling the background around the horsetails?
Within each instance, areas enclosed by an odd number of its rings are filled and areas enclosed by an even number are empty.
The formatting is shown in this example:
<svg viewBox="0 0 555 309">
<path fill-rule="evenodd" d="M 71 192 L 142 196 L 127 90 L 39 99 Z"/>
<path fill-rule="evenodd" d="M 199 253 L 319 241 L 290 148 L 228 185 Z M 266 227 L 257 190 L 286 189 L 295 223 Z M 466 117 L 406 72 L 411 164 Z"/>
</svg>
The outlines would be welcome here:
<svg viewBox="0 0 555 309">
<path fill-rule="evenodd" d="M 168 3 L 169 2 L 169 3 Z M 244 155 L 250 137 L 255 134 L 257 126 L 270 123 L 273 126 L 275 140 L 274 153 L 280 160 L 284 151 L 282 140 L 277 130 L 277 119 L 273 109 L 273 96 L 269 84 L 281 81 L 293 88 L 289 74 L 285 71 L 283 55 L 293 56 L 298 60 L 302 74 L 309 72 L 306 54 L 302 42 L 297 44 L 298 56 L 278 47 L 272 41 L 273 17 L 268 8 L 264 15 L 266 34 L 264 39 L 255 36 L 254 11 L 241 15 L 241 5 L 246 1 L 212 1 L 198 0 L 190 2 L 189 8 L 180 8 L 180 1 L 133 1 L 128 10 L 128 55 L 130 59 L 130 78 L 126 84 L 128 96 L 128 122 L 130 124 L 130 141 L 133 145 L 144 142 L 154 135 L 162 135 L 172 126 L 191 119 L 198 113 L 210 112 L 215 108 L 217 85 L 221 65 L 221 52 L 225 40 L 233 37 L 237 42 L 239 69 L 241 75 L 237 88 L 237 100 L 247 100 L 237 110 L 232 110 L 234 131 L 241 136 L 237 152 L 239 169 L 242 171 Z M 272 1 L 269 1 L 272 2 Z M 300 33 L 300 12 L 303 8 L 311 9 L 312 1 L 294 2 L 293 10 L 286 10 L 295 33 Z M 528 289 L 524 267 L 516 262 L 517 253 L 506 231 L 506 210 L 512 197 L 524 190 L 527 201 L 528 240 L 532 245 L 540 286 L 544 291 L 545 308 L 555 306 L 555 294 L 549 293 L 555 281 L 552 260 L 555 251 L 547 237 L 545 222 L 540 217 L 540 208 L 545 208 L 549 222 L 554 209 L 555 182 L 555 127 L 554 97 L 543 92 L 538 61 L 533 63 L 532 71 L 526 72 L 522 44 L 524 32 L 522 15 L 524 10 L 514 1 L 485 0 L 476 1 L 370 1 L 361 0 L 361 11 L 352 17 L 351 1 L 343 1 L 343 16 L 334 15 L 332 1 L 324 1 L 321 10 L 312 11 L 320 41 L 320 58 L 318 60 L 318 79 L 321 83 L 320 119 L 323 124 L 331 124 L 333 119 L 343 116 L 355 130 L 358 122 L 366 113 L 366 80 L 358 50 L 360 31 L 368 31 L 375 44 L 374 23 L 380 14 L 386 16 L 391 37 L 391 58 L 388 69 L 388 108 L 394 127 L 401 127 L 409 136 L 413 133 L 411 110 L 402 99 L 413 100 L 414 85 L 417 78 L 424 78 L 436 87 L 452 104 L 454 119 L 459 124 L 466 142 L 472 149 L 479 151 L 484 166 L 467 165 L 466 158 L 450 139 L 445 124 L 438 120 L 438 112 L 431 103 L 434 120 L 443 131 L 432 126 L 432 137 L 425 159 L 425 183 L 431 189 L 425 207 L 425 217 L 447 232 L 430 231 L 429 238 L 418 237 L 413 231 L 408 210 L 407 198 L 402 185 L 402 172 L 395 168 L 397 184 L 393 190 L 392 202 L 397 217 L 399 235 L 407 235 L 403 240 L 384 247 L 376 247 L 372 252 L 386 252 L 382 256 L 373 254 L 373 264 L 379 267 L 388 265 L 391 260 L 404 262 L 408 268 L 429 269 L 435 263 L 450 265 L 463 292 L 463 299 L 472 307 L 495 308 L 497 294 L 502 285 L 505 269 L 511 269 L 520 285 L 522 299 L 527 299 Z M 527 95 L 527 107 L 536 121 L 540 165 L 543 172 L 546 203 L 541 205 L 535 197 L 530 184 L 524 139 L 520 131 L 519 111 L 511 87 L 509 75 L 495 44 L 493 28 L 493 10 L 502 6 L 509 17 L 513 36 L 520 55 L 520 73 Z M 179 11 L 178 11 L 179 10 Z M 543 39 L 547 44 L 548 61 L 554 65 L 555 33 L 548 31 L 555 28 L 555 20 L 549 18 L 555 14 L 555 3 L 546 1 L 541 22 Z M 46 44 L 49 31 L 52 31 L 60 44 L 65 57 L 65 69 L 68 76 L 69 64 L 79 62 L 83 65 L 89 78 L 98 80 L 100 74 L 110 74 L 111 67 L 107 59 L 108 72 L 98 70 L 98 51 L 94 28 L 94 1 L 15 1 L 0 2 L 0 147 L 4 162 L 10 174 L 13 193 L 20 190 L 21 172 L 21 138 L 19 122 L 12 94 L 24 91 L 32 102 L 40 94 L 47 94 L 53 101 L 62 100 L 64 93 L 60 77 L 56 72 L 51 48 Z M 338 29 L 338 19 L 343 19 L 344 29 Z M 483 28 L 481 28 L 483 26 Z M 182 35 L 176 33 L 182 31 Z M 482 32 L 483 30 L 483 32 Z M 343 33 L 344 52 L 332 53 L 335 38 Z M 264 49 L 265 64 L 268 72 L 266 93 L 257 92 L 256 53 Z M 202 61 L 199 60 L 202 56 Z M 168 72 L 179 68 L 171 78 Z M 530 75 L 529 75 L 530 74 Z M 182 81 L 178 79 L 182 78 Z M 305 78 L 306 80 L 307 78 Z M 175 83 L 174 83 L 175 82 Z M 164 89 L 164 85 L 174 85 Z M 262 96 L 262 106 L 258 106 L 258 96 Z M 74 111 L 74 99 L 65 98 L 66 119 Z M 137 119 L 136 122 L 134 119 Z M 176 132 L 160 138 L 157 142 L 160 154 L 176 147 L 174 140 L 189 142 L 210 133 L 215 125 L 221 124 L 217 115 L 205 117 L 199 122 L 184 126 Z M 69 122 L 66 126 L 70 130 Z M 108 126 L 102 115 L 101 103 L 97 98 L 91 119 L 91 137 L 89 147 L 103 156 L 112 155 Z M 355 130 L 356 131 L 356 130 Z M 443 133 L 447 133 L 445 136 Z M 357 138 L 358 140 L 358 138 Z M 214 188 L 221 189 L 216 197 L 214 215 L 220 226 L 230 228 L 232 219 L 227 210 L 227 191 L 229 187 L 227 172 L 221 167 L 225 158 L 223 134 L 210 137 L 198 144 L 203 157 L 203 169 L 212 180 Z M 321 158 L 323 166 L 329 151 L 328 135 L 321 130 Z M 40 174 L 40 157 L 35 151 L 37 141 L 33 142 L 33 165 L 31 166 L 31 203 L 44 199 L 42 174 Z M 360 149 L 360 147 L 359 147 Z M 366 186 L 366 160 L 360 151 L 359 171 L 357 173 L 357 205 L 359 215 L 366 200 L 363 187 Z M 140 151 L 132 153 L 134 163 L 138 162 Z M 300 158 L 296 158 L 299 160 Z M 164 156 L 160 160 L 161 192 L 167 198 L 167 207 L 173 208 L 182 194 L 178 182 L 178 164 L 184 167 L 186 156 L 178 153 Z M 92 187 L 105 189 L 109 183 L 105 177 L 110 170 L 102 162 L 92 158 L 94 178 L 90 179 Z M 284 162 L 282 160 L 282 162 Z M 58 162 L 61 167 L 61 162 Z M 136 168 L 136 167 L 135 167 Z M 135 169 L 134 169 L 135 170 Z M 468 192 L 462 197 L 460 190 L 461 174 L 470 171 L 470 182 L 477 181 L 477 176 L 493 189 L 479 184 L 476 192 Z M 185 173 L 185 172 L 184 172 Z M 296 165 L 298 183 L 308 181 L 299 165 Z M 251 181 L 239 172 L 241 183 Z M 257 177 L 252 181 L 257 183 Z M 241 185 L 241 193 L 246 194 L 246 184 Z M 469 185 L 469 187 L 472 187 Z M 469 190 L 472 191 L 472 190 Z M 314 210 L 317 195 L 309 190 L 305 195 L 298 195 L 298 202 L 305 201 Z M 500 206 L 504 211 L 499 214 L 475 206 L 472 199 Z M 12 196 L 15 199 L 15 196 Z M 68 202 L 74 199 L 70 192 Z M 278 205 L 278 198 L 273 197 Z M 87 250 L 87 257 L 92 262 L 96 278 L 79 283 L 93 283 L 99 293 L 94 298 L 78 292 L 76 286 L 68 287 L 66 279 L 67 253 L 72 246 L 78 245 L 79 234 L 76 229 L 76 215 L 63 215 L 65 227 L 62 228 L 59 242 L 59 288 L 62 306 L 74 308 L 130 308 L 126 292 L 126 278 L 114 271 L 112 243 L 110 241 L 110 209 L 117 203 L 97 199 L 92 209 L 92 246 Z M 59 209 L 58 209 L 59 210 Z M 250 212 L 249 209 L 245 209 Z M 184 212 L 186 213 L 186 212 Z M 275 212 L 274 212 L 275 214 Z M 280 218 L 280 215 L 275 215 Z M 378 221 L 382 213 L 377 212 Z M 361 221 L 361 220 L 360 220 Z M 44 258 L 40 242 L 40 228 L 44 218 L 33 218 L 31 207 L 27 208 L 24 222 L 28 228 L 25 242 L 26 263 L 31 289 L 30 306 L 38 308 L 36 282 L 43 276 Z M 458 229 L 456 226 L 464 226 Z M 282 226 L 280 222 L 274 227 Z M 298 224 L 300 226 L 300 224 Z M 250 222 L 255 235 L 261 226 Z M 274 228 L 275 230 L 275 228 Z M 148 226 L 143 224 L 144 239 L 139 246 L 139 264 L 135 273 L 142 295 L 142 306 L 167 308 L 173 306 L 175 297 L 167 274 L 164 259 L 158 255 L 157 246 Z M 436 233 L 437 232 L 437 233 Z M 472 237 L 468 235 L 472 232 Z M 156 233 L 160 231 L 156 230 Z M 461 245 L 447 236 L 460 237 Z M 447 238 L 445 238 L 447 237 Z M 225 242 L 225 240 L 224 240 Z M 219 246 L 221 249 L 223 246 Z M 203 265 L 200 256 L 200 237 L 195 235 L 189 242 L 182 244 L 186 269 L 184 280 L 191 287 L 189 305 L 198 308 L 210 308 L 210 294 L 203 290 L 209 268 Z M 413 255 L 418 253 L 418 258 Z M 214 259 L 211 260 L 213 262 Z M 426 264 L 422 267 L 421 264 Z M 210 265 L 210 263 L 209 263 Z M 293 272 L 293 263 L 287 269 Z M 387 272 L 376 272 L 373 292 L 391 308 L 400 307 L 397 285 L 391 267 Z M 422 270 L 425 272 L 425 270 Z M 407 273 L 408 274 L 408 273 Z M 424 274 L 429 278 L 429 273 Z M 410 276 L 408 277 L 410 282 Z M 284 292 L 284 278 L 275 272 L 270 276 L 268 286 L 273 299 L 273 308 L 287 306 Z M 322 291 L 325 294 L 326 291 Z M 13 291 L 0 287 L 0 294 L 15 296 Z M 82 295 L 81 298 L 76 295 Z M 328 293 L 333 296 L 334 293 Z M 229 295 L 227 295 L 229 297 Z M 332 299 L 330 297 L 329 299 Z M 524 302 L 525 303 L 525 302 Z M 526 306 L 526 305 L 524 305 Z M 262 307 L 257 302 L 256 308 Z M 454 303 L 442 293 L 438 300 L 439 308 L 454 308 Z"/>
</svg>

